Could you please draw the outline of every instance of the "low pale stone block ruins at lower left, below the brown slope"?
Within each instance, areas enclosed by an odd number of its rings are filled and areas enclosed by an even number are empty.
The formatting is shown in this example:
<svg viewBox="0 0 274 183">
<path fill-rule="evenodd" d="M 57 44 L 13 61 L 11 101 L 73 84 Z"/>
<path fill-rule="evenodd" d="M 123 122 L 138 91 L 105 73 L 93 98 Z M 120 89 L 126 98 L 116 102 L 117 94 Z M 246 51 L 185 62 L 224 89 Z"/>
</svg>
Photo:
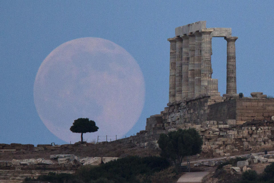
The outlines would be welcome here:
<svg viewBox="0 0 274 183">
<path fill-rule="evenodd" d="M 22 182 L 25 178 L 37 178 L 39 175 L 55 173 L 76 173 L 78 167 L 83 165 L 100 165 L 113 160 L 115 157 L 77 157 L 73 154 L 56 154 L 50 156 L 51 160 L 43 158 L 12 161 L 0 161 L 1 180 Z"/>
</svg>

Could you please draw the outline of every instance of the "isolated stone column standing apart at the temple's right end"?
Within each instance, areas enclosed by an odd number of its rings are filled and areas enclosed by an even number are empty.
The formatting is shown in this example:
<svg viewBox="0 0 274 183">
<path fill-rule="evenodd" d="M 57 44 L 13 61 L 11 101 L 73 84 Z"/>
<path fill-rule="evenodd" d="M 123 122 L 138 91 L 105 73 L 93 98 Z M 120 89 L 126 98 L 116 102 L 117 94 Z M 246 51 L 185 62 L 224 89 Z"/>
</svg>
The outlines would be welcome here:
<svg viewBox="0 0 274 183">
<path fill-rule="evenodd" d="M 238 37 L 225 37 L 227 41 L 226 94 L 237 94 L 235 41 Z"/>
</svg>

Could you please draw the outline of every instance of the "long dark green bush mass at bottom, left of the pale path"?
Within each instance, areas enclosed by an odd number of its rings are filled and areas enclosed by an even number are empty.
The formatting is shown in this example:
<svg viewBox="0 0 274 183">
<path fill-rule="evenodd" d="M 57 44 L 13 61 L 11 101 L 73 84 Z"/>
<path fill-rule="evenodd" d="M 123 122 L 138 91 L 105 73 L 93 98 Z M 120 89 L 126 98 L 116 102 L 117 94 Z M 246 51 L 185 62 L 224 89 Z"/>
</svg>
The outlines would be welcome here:
<svg viewBox="0 0 274 183">
<path fill-rule="evenodd" d="M 114 183 L 138 183 L 138 175 L 151 175 L 168 168 L 169 165 L 166 159 L 156 156 L 144 158 L 128 156 L 100 166 L 83 166 L 80 168 L 79 177 L 85 182 L 99 181 L 100 178 L 104 177 Z"/>
</svg>

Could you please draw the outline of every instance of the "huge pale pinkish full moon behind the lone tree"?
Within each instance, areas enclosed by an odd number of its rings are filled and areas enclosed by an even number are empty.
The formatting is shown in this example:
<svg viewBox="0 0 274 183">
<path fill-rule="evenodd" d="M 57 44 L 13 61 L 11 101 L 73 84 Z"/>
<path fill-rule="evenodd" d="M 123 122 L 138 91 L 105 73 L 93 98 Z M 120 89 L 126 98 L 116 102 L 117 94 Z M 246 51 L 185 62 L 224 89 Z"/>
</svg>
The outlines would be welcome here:
<svg viewBox="0 0 274 183">
<path fill-rule="evenodd" d="M 115 140 L 137 122 L 144 106 L 144 77 L 134 58 L 119 45 L 84 37 L 63 43 L 42 62 L 34 87 L 34 103 L 45 126 L 66 142 L 80 134 L 74 120 L 89 118 L 99 127 L 87 142 Z"/>
</svg>

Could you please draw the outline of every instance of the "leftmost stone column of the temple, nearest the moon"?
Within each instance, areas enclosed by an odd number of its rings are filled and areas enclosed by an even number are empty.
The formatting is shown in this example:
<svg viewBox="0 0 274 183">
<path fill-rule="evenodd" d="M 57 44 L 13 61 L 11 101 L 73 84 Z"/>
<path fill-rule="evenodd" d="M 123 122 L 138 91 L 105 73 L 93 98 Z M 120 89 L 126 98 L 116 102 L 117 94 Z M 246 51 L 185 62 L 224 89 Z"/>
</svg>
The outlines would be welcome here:
<svg viewBox="0 0 274 183">
<path fill-rule="evenodd" d="M 175 57 L 176 57 L 176 41 L 169 38 L 170 42 L 170 65 L 169 65 L 169 102 L 175 101 Z"/>
</svg>

